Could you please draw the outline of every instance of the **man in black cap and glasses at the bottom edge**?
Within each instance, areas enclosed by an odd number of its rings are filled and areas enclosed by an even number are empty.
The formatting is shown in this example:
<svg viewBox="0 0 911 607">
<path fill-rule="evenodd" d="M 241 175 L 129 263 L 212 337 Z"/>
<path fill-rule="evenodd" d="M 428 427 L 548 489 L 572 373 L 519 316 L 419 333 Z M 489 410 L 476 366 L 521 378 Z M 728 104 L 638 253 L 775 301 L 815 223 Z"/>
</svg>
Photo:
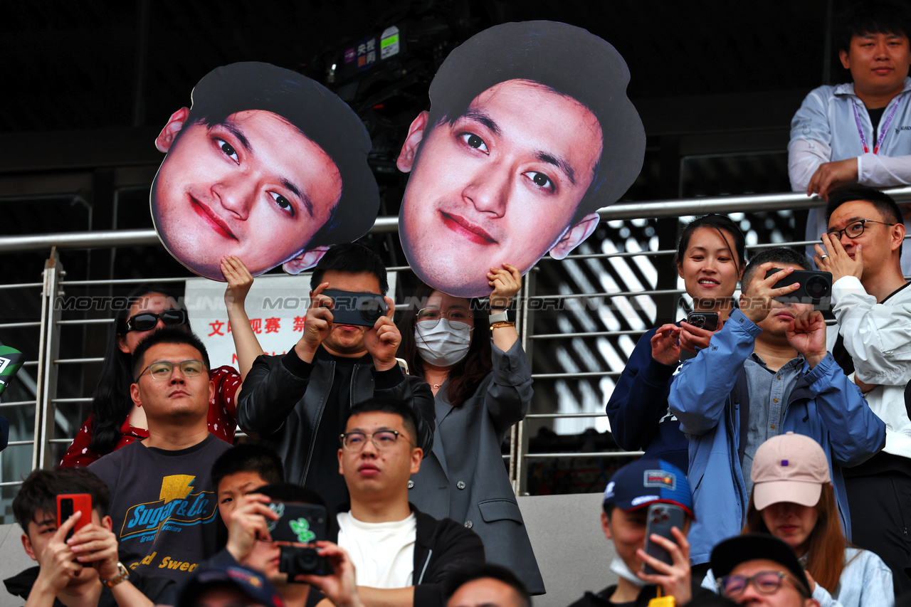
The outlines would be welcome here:
<svg viewBox="0 0 911 607">
<path fill-rule="evenodd" d="M 738 535 L 711 550 L 718 592 L 739 605 L 819 607 L 791 547 L 764 533 Z"/>
</svg>

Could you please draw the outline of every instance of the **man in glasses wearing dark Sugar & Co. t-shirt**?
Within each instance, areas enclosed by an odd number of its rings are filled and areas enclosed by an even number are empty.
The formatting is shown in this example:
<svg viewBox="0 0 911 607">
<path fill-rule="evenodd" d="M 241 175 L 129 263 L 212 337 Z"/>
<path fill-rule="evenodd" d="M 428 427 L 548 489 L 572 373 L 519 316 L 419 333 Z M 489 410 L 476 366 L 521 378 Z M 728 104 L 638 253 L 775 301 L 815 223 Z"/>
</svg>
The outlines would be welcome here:
<svg viewBox="0 0 911 607">
<path fill-rule="evenodd" d="M 181 580 L 218 549 L 218 500 L 210 469 L 230 445 L 211 435 L 209 355 L 179 328 L 149 334 L 133 352 L 130 396 L 148 438 L 89 468 L 111 492 L 112 530 L 128 571 Z"/>
</svg>

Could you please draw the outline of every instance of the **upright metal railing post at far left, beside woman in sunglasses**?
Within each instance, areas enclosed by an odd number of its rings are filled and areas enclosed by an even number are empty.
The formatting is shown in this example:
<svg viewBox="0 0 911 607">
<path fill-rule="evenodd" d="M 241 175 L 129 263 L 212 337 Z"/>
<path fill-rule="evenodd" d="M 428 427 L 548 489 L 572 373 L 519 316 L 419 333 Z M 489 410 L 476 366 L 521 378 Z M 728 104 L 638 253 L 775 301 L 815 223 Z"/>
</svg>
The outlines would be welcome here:
<svg viewBox="0 0 911 607">
<path fill-rule="evenodd" d="M 52 468 L 56 465 L 50 440 L 54 437 L 54 413 L 57 388 L 57 365 L 60 357 L 60 309 L 55 305 L 60 291 L 60 281 L 67 273 L 60 263 L 56 247 L 45 262 L 44 287 L 41 293 L 41 334 L 38 343 L 38 390 L 35 409 L 35 446 L 32 469 Z"/>
</svg>

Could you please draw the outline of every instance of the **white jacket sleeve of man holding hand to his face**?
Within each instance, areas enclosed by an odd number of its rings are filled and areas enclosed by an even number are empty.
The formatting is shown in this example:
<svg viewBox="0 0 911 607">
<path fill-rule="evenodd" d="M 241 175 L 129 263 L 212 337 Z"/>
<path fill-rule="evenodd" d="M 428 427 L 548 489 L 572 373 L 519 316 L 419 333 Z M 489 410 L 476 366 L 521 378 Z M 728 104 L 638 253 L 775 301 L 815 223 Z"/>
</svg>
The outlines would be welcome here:
<svg viewBox="0 0 911 607">
<path fill-rule="evenodd" d="M 855 375 L 867 384 L 885 386 L 911 381 L 911 303 L 877 304 L 854 276 L 832 285 L 832 300 Z"/>
</svg>

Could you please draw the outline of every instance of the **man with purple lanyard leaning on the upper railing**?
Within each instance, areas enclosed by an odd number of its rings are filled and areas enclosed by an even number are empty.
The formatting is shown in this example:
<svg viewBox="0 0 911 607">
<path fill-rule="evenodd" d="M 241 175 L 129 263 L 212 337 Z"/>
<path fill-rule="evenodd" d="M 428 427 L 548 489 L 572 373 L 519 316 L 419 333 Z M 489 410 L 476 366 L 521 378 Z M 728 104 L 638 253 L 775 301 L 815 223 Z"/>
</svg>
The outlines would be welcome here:
<svg viewBox="0 0 911 607">
<path fill-rule="evenodd" d="M 794 191 L 827 201 L 845 183 L 911 183 L 909 20 L 907 6 L 893 0 L 854 3 L 839 16 L 835 42 L 852 82 L 815 88 L 794 114 L 788 144 Z M 810 210 L 806 240 L 819 239 L 824 219 L 823 209 Z M 813 255 L 812 246 L 807 255 Z M 911 273 L 911 247 L 903 266 Z"/>
</svg>

